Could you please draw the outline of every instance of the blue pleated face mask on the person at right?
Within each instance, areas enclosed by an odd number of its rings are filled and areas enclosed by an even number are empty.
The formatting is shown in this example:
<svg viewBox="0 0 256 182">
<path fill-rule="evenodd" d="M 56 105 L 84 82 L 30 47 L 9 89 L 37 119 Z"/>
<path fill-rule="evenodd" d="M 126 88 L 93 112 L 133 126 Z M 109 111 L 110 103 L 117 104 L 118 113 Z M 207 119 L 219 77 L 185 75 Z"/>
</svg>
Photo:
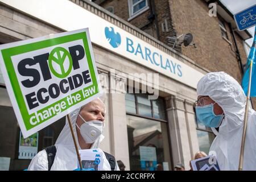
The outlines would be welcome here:
<svg viewBox="0 0 256 182">
<path fill-rule="evenodd" d="M 216 102 L 214 104 L 216 104 Z M 208 127 L 219 127 L 222 119 L 224 118 L 224 114 L 215 115 L 213 111 L 214 104 L 196 106 L 197 121 Z"/>
</svg>

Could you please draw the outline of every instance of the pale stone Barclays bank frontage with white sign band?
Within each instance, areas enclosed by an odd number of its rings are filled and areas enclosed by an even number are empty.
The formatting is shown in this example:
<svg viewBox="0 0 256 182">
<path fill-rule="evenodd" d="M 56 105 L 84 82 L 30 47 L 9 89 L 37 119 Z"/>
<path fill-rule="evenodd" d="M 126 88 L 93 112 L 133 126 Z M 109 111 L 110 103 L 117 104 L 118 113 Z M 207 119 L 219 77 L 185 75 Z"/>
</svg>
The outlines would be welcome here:
<svg viewBox="0 0 256 182">
<path fill-rule="evenodd" d="M 47 9 L 47 13 L 44 9 L 49 1 L 28 3 L 0 3 L 0 42 L 89 27 L 105 90 L 106 125 L 101 148 L 122 160 L 126 170 L 172 170 L 179 163 L 189 169 L 189 160 L 197 151 L 209 151 L 214 135 L 196 123 L 193 111 L 196 84 L 207 73 L 205 69 L 92 3 L 51 1 L 60 8 L 54 12 Z M 43 11 L 36 11 L 39 7 Z M 112 38 L 118 34 L 120 40 Z M 138 83 L 139 93 L 127 92 L 129 86 L 136 89 L 129 84 L 130 75 L 136 78 L 133 82 Z M 22 139 L 1 74 L 0 81 L 0 158 L 10 159 L 10 170 L 22 170 L 36 152 L 55 143 L 65 118 Z M 153 94 L 157 97 L 148 99 Z"/>
</svg>

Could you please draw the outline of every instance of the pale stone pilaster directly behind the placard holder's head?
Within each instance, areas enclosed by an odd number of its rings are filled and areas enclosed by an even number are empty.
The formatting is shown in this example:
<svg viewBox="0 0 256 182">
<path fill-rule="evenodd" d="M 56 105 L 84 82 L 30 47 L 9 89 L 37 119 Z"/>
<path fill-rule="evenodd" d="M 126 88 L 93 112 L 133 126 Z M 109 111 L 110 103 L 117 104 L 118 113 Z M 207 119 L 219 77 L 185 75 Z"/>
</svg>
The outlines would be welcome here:
<svg viewBox="0 0 256 182">
<path fill-rule="evenodd" d="M 116 160 L 122 160 L 130 170 L 129 145 L 126 124 L 126 78 L 110 73 L 109 115 L 111 153 Z"/>
</svg>

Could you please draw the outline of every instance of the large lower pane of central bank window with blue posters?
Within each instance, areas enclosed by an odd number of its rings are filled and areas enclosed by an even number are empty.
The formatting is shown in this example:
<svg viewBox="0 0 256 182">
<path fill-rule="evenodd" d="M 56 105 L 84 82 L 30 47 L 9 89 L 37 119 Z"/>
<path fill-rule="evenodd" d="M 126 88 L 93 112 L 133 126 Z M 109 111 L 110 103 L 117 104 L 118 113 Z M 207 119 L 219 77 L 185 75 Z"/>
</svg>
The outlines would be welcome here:
<svg viewBox="0 0 256 182">
<path fill-rule="evenodd" d="M 167 122 L 127 115 L 130 169 L 169 171 L 171 155 Z"/>
</svg>

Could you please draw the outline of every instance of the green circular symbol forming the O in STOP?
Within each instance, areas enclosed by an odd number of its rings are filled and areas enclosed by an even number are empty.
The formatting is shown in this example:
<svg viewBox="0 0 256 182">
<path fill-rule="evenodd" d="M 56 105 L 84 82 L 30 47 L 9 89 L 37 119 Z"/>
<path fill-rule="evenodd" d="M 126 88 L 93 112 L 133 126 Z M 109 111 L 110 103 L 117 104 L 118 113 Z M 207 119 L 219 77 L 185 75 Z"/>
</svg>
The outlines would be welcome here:
<svg viewBox="0 0 256 182">
<path fill-rule="evenodd" d="M 65 71 L 65 68 L 64 68 L 65 59 L 68 59 L 68 61 L 69 61 L 69 67 L 68 67 L 67 71 Z M 57 72 L 53 68 L 52 61 L 54 61 L 57 65 L 59 65 L 61 73 Z M 72 64 L 73 64 L 73 61 L 72 61 L 72 57 L 71 57 L 70 53 L 67 51 L 67 49 L 65 49 L 63 47 L 56 47 L 49 54 L 49 69 L 51 70 L 53 75 L 55 75 L 56 77 L 59 77 L 59 78 L 67 77 L 72 70 Z"/>
</svg>

